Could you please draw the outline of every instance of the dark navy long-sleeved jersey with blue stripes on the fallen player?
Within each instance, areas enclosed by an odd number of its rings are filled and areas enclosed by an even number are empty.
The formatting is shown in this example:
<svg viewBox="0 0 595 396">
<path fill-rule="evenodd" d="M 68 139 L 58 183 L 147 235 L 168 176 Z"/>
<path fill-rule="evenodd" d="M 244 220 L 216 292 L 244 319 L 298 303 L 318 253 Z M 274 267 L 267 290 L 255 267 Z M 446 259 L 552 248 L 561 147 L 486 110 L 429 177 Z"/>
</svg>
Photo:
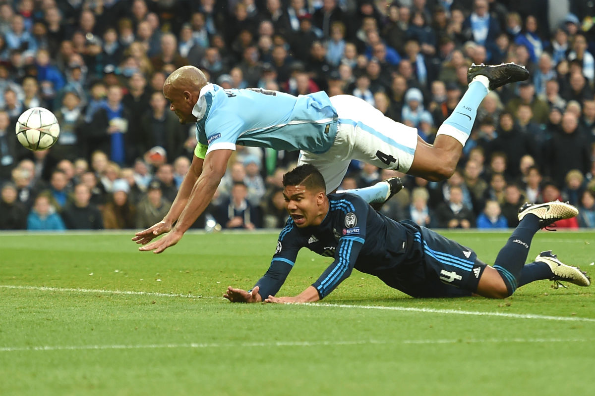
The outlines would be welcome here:
<svg viewBox="0 0 595 396">
<path fill-rule="evenodd" d="M 330 210 L 320 226 L 300 229 L 289 218 L 281 230 L 271 266 L 255 285 L 263 300 L 278 292 L 301 248 L 334 257 L 312 284 L 321 299 L 349 277 L 353 268 L 384 280 L 397 267 L 421 261 L 423 248 L 416 236 L 419 240 L 422 227 L 378 214 L 358 195 L 329 194 L 328 199 Z"/>
</svg>

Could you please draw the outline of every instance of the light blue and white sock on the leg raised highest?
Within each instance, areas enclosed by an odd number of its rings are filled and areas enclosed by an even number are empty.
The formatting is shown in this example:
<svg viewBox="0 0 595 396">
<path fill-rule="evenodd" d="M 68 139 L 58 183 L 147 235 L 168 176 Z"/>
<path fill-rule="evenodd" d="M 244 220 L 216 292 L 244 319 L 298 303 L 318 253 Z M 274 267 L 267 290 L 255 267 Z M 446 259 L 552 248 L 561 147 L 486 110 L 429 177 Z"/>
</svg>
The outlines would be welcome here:
<svg viewBox="0 0 595 396">
<path fill-rule="evenodd" d="M 477 115 L 477 108 L 488 93 L 487 85 L 479 77 L 487 80 L 487 77 L 478 76 L 469 83 L 469 88 L 461 98 L 461 102 L 456 105 L 455 110 L 440 125 L 438 132 L 436 132 L 437 135 L 449 135 L 455 138 L 461 142 L 463 147 L 465 147 L 465 142 L 471 134 L 471 128 L 473 128 L 475 116 Z"/>
</svg>

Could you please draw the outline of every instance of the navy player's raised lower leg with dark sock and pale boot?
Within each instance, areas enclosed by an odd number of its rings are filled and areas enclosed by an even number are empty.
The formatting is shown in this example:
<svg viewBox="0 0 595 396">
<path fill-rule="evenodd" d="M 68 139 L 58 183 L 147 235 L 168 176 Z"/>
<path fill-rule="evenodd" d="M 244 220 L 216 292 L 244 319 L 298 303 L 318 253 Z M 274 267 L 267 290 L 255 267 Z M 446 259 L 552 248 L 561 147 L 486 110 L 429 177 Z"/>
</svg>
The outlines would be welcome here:
<svg viewBox="0 0 595 396">
<path fill-rule="evenodd" d="M 519 212 L 519 224 L 512 232 L 508 242 L 496 256 L 493 269 L 484 271 L 480 278 L 477 288 L 477 294 L 484 297 L 505 298 L 511 296 L 516 288 L 521 286 L 521 274 L 527 255 L 531 246 L 531 240 L 535 233 L 552 223 L 562 218 L 571 218 L 577 216 L 578 210 L 572 205 L 563 202 L 547 202 L 547 204 L 540 205 L 524 205 Z M 544 267 L 535 268 L 533 275 L 540 277 L 543 273 L 538 270 L 543 270 Z M 497 279 L 496 274 L 499 275 L 505 289 L 502 288 L 502 283 Z M 530 274 L 525 274 L 530 279 Z M 537 280 L 534 279 L 534 280 Z M 532 281 L 532 280 L 531 280 Z"/>
</svg>

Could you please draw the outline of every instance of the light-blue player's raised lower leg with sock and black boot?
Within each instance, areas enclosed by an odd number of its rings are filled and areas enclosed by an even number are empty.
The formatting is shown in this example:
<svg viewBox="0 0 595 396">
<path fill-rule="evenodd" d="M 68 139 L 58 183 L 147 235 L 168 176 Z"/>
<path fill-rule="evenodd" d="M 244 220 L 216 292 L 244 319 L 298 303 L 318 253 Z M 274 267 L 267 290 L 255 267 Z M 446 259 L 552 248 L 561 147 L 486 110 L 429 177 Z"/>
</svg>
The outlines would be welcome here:
<svg viewBox="0 0 595 396">
<path fill-rule="evenodd" d="M 477 109 L 488 91 L 507 83 L 527 80 L 528 77 L 524 67 L 514 64 L 472 65 L 467 73 L 469 87 L 461 101 L 440 125 L 433 145 L 420 139 L 407 173 L 434 181 L 450 178 L 471 134 Z"/>
</svg>

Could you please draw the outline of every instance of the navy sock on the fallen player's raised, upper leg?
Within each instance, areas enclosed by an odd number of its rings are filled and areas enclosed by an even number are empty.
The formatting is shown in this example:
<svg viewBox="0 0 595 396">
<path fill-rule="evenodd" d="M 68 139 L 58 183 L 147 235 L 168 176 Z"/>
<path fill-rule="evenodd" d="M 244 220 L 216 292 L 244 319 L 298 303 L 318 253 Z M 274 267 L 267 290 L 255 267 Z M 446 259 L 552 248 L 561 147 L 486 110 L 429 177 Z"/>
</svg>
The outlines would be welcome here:
<svg viewBox="0 0 595 396">
<path fill-rule="evenodd" d="M 534 214 L 527 214 L 496 257 L 494 269 L 498 271 L 506 284 L 509 296 L 519 286 L 519 279 L 529 254 L 531 239 L 538 230 L 539 218 Z"/>
</svg>

